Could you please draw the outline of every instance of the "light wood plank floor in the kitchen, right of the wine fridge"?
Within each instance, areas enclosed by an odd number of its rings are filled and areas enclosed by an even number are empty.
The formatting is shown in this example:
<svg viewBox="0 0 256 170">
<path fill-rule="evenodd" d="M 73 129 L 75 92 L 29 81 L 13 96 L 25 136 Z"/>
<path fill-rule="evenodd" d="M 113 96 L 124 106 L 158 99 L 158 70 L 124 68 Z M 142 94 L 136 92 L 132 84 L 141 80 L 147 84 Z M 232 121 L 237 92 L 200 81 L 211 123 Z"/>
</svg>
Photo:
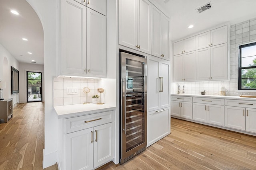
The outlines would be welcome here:
<svg viewBox="0 0 256 170">
<path fill-rule="evenodd" d="M 172 133 L 130 161 L 102 170 L 256 170 L 256 137 L 171 119 Z"/>
</svg>

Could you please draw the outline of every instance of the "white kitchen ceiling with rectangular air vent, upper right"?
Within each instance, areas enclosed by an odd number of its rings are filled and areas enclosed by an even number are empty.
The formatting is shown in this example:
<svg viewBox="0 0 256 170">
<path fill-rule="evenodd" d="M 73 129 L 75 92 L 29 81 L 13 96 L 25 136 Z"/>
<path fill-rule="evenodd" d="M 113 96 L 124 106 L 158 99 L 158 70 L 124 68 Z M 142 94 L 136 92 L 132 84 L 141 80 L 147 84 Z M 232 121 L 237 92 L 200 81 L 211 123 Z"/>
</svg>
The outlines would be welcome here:
<svg viewBox="0 0 256 170">
<path fill-rule="evenodd" d="M 230 25 L 256 18 L 256 0 L 156 0 L 169 12 L 171 40 L 175 41 L 210 27 Z M 212 8 L 198 13 L 197 8 L 211 2 Z M 194 25 L 188 29 L 189 25 Z"/>
</svg>

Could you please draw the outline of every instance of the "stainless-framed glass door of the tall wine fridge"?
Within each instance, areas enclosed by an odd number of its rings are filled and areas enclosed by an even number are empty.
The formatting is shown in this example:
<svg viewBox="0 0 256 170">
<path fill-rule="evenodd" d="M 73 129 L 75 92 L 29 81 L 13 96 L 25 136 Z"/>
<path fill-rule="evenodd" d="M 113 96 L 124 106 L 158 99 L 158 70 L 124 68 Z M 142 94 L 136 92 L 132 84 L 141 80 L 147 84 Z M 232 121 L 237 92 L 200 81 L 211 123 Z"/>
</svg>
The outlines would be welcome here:
<svg viewBox="0 0 256 170">
<path fill-rule="evenodd" d="M 121 159 L 124 163 L 146 149 L 146 59 L 121 52 Z"/>
</svg>

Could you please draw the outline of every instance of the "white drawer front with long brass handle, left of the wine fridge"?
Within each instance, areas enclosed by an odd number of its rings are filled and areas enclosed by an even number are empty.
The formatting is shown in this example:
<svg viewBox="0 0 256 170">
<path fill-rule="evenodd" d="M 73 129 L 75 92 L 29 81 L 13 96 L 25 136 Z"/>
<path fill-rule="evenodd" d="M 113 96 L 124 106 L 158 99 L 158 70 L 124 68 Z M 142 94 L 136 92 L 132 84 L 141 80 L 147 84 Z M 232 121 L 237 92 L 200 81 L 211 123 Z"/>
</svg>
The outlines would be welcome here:
<svg viewBox="0 0 256 170">
<path fill-rule="evenodd" d="M 71 133 L 114 121 L 114 111 L 105 111 L 65 119 L 66 132 Z"/>
</svg>

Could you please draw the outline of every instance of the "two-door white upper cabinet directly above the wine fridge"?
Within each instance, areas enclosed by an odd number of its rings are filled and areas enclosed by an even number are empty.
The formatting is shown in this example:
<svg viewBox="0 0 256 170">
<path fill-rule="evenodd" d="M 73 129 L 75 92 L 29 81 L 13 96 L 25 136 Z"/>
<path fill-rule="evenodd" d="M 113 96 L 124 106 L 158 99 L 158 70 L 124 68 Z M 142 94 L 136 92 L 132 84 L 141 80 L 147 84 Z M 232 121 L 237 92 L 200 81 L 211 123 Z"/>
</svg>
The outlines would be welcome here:
<svg viewBox="0 0 256 170">
<path fill-rule="evenodd" d="M 150 16 L 148 0 L 119 1 L 119 44 L 150 54 Z"/>
</svg>

